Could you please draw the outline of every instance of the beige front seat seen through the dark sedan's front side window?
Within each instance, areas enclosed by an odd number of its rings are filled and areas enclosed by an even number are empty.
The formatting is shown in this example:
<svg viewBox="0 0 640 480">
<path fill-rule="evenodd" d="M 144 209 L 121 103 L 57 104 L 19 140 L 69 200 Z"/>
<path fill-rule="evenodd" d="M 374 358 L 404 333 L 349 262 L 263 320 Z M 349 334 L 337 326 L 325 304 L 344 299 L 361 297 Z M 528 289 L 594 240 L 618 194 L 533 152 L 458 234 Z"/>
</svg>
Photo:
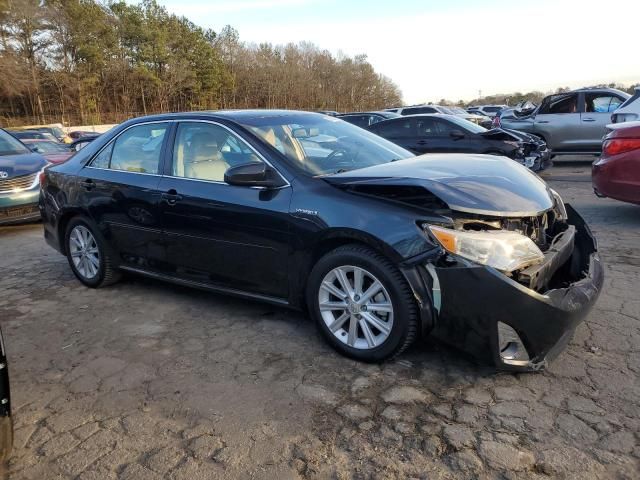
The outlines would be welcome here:
<svg viewBox="0 0 640 480">
<path fill-rule="evenodd" d="M 184 170 L 188 178 L 223 182 L 229 164 L 218 149 L 216 139 L 207 133 L 197 133 L 185 149 Z"/>
</svg>

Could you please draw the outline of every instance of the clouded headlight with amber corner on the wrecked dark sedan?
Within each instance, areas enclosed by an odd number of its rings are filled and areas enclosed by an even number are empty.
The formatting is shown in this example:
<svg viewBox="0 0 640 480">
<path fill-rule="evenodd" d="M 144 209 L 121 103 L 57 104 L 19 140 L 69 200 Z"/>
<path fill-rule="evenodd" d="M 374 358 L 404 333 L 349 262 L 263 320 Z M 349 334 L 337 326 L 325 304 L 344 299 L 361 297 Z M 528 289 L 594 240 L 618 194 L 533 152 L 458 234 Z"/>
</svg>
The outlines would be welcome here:
<svg viewBox="0 0 640 480">
<path fill-rule="evenodd" d="M 513 272 L 544 260 L 533 240 L 517 232 L 426 227 L 448 252 L 502 272 Z"/>
</svg>

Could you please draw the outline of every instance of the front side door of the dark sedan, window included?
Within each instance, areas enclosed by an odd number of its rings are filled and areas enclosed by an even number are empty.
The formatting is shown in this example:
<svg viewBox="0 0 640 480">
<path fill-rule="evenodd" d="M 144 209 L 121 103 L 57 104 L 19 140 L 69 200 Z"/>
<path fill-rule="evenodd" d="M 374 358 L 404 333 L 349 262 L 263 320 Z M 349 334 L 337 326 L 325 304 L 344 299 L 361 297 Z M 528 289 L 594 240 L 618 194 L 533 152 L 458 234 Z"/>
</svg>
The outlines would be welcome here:
<svg viewBox="0 0 640 480">
<path fill-rule="evenodd" d="M 220 124 L 178 124 L 169 174 L 159 186 L 167 262 L 175 275 L 286 298 L 291 187 L 224 182 L 229 167 L 261 161 Z"/>
</svg>

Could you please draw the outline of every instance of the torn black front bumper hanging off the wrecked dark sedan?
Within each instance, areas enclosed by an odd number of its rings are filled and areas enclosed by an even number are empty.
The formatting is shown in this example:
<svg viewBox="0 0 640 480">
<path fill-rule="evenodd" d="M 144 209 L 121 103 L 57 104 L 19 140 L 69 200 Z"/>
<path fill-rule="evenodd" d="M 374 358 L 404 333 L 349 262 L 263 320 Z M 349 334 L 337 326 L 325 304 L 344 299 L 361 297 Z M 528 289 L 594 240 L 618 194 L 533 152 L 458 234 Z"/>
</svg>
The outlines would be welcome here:
<svg viewBox="0 0 640 480">
<path fill-rule="evenodd" d="M 420 302 L 427 318 L 423 326 L 500 369 L 546 367 L 571 340 L 604 280 L 589 227 L 569 205 L 567 214 L 567 223 L 575 227 L 574 248 L 563 265 L 554 266 L 553 278 L 543 292 L 491 267 L 451 255 L 435 263 L 424 261 L 417 267 L 421 286 L 418 275 L 407 276 L 414 291 L 422 289 L 428 296 L 428 301 Z"/>
</svg>

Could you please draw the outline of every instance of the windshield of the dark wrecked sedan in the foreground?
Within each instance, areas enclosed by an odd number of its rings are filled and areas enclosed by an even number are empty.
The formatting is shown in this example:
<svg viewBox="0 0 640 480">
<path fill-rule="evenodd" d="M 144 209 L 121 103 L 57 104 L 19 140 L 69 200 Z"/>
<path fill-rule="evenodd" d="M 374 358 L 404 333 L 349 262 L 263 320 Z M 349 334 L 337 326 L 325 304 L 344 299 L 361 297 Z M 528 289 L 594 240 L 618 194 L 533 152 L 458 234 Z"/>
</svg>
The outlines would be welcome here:
<svg viewBox="0 0 640 480">
<path fill-rule="evenodd" d="M 310 175 L 341 173 L 414 156 L 388 140 L 332 117 L 291 114 L 242 122 Z"/>
</svg>

